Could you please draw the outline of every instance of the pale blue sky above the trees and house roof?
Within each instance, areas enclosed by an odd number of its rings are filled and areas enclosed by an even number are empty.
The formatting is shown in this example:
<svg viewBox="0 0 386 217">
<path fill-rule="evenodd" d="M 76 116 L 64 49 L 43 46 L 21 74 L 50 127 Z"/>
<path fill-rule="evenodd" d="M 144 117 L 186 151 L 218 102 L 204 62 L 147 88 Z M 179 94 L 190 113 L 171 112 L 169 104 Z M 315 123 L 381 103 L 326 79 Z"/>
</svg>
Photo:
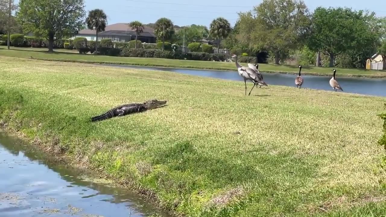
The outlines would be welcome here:
<svg viewBox="0 0 386 217">
<path fill-rule="evenodd" d="M 15 0 L 15 3 L 19 2 Z M 190 3 L 189 3 L 190 2 Z M 161 17 L 171 19 L 174 25 L 206 25 L 217 17 L 224 17 L 233 26 L 238 12 L 253 10 L 262 0 L 85 0 L 85 9 L 100 8 L 108 16 L 108 24 L 139 20 L 143 24 L 154 23 Z M 363 0 L 304 0 L 310 12 L 318 6 L 351 7 L 355 10 L 371 10 L 377 16 L 386 16 L 386 1 Z"/>
</svg>

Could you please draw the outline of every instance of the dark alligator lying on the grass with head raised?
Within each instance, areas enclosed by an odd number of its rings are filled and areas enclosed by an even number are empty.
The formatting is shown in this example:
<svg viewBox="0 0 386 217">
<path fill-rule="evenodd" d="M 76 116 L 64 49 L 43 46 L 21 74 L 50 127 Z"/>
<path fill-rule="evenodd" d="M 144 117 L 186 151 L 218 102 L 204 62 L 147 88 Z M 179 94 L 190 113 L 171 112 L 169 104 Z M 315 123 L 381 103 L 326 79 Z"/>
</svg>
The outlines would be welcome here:
<svg viewBox="0 0 386 217">
<path fill-rule="evenodd" d="M 144 112 L 146 110 L 151 110 L 153 108 L 161 107 L 165 104 L 166 104 L 166 100 L 158 101 L 156 99 L 147 100 L 144 103 L 124 104 L 124 105 L 120 105 L 118 107 L 112 108 L 102 115 L 92 117 L 91 122 L 110 119 L 112 117 L 123 116 L 123 115 L 132 114 L 132 113 Z"/>
</svg>

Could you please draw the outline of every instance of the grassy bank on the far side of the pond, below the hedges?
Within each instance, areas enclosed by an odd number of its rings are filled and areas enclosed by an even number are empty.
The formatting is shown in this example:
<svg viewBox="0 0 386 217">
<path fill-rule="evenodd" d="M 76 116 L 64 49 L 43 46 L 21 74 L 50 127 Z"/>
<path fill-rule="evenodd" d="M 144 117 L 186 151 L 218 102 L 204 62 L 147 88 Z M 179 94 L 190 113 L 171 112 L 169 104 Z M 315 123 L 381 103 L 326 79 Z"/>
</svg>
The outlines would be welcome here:
<svg viewBox="0 0 386 217">
<path fill-rule="evenodd" d="M 163 66 L 174 68 L 197 68 L 197 69 L 213 69 L 213 70 L 236 70 L 234 63 L 213 62 L 213 61 L 195 61 L 195 60 L 179 60 L 179 59 L 161 59 L 161 58 L 127 58 L 114 56 L 94 56 L 91 54 L 80 55 L 75 53 L 56 52 L 49 54 L 40 49 L 3 49 L 0 46 L 0 56 L 30 58 L 51 60 L 51 61 L 70 61 L 82 63 L 107 63 L 107 64 L 127 64 L 140 66 Z M 246 63 L 241 63 L 247 66 Z M 274 65 L 274 64 L 259 64 L 259 70 L 266 72 L 280 72 L 280 73 L 298 73 L 297 66 L 290 65 Z M 331 68 L 321 67 L 303 67 L 302 73 L 304 75 L 332 75 Z M 386 71 L 379 70 L 359 70 L 359 69 L 340 69 L 337 68 L 339 76 L 354 76 L 354 77 L 372 77 L 372 78 L 386 78 Z"/>
</svg>

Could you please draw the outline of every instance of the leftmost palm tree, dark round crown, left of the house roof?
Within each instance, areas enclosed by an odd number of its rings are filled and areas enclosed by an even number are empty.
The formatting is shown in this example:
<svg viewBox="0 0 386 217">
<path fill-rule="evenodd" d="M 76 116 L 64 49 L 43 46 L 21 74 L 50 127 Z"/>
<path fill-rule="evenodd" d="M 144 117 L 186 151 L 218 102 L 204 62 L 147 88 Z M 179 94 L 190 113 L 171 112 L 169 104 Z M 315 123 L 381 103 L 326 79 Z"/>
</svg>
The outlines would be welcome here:
<svg viewBox="0 0 386 217">
<path fill-rule="evenodd" d="M 107 15 L 102 9 L 94 9 L 88 12 L 86 18 L 88 29 L 95 29 L 97 31 L 97 40 L 95 42 L 95 52 L 98 51 L 98 32 L 105 31 L 107 25 Z"/>
</svg>

